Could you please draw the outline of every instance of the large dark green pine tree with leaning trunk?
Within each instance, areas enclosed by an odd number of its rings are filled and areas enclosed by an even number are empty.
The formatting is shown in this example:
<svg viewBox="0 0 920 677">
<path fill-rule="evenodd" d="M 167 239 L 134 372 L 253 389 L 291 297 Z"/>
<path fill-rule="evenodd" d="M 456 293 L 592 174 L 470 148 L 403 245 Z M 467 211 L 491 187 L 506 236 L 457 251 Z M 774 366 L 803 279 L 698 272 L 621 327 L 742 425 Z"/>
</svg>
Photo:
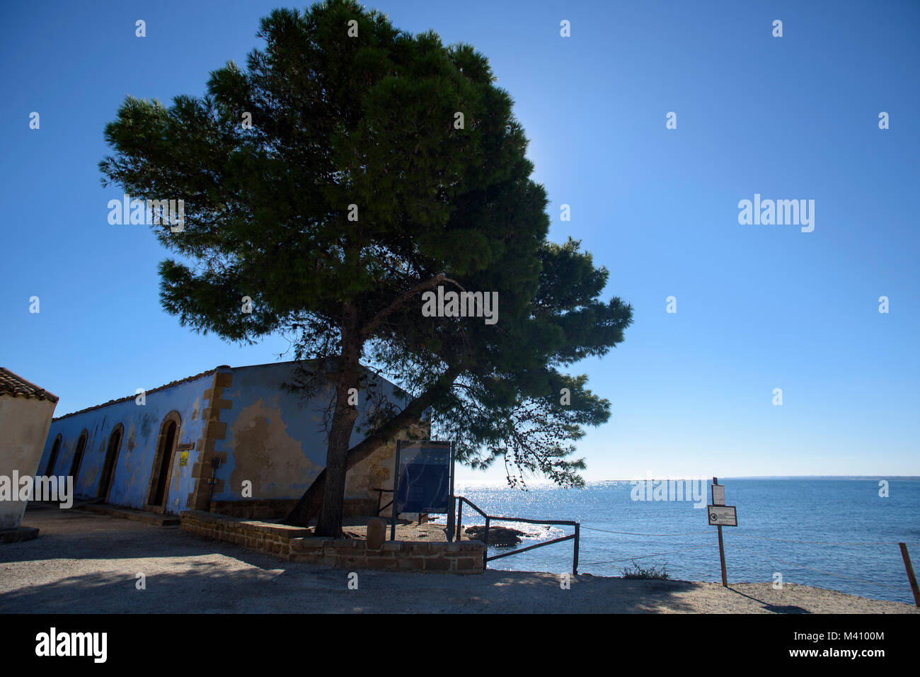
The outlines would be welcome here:
<svg viewBox="0 0 920 677">
<path fill-rule="evenodd" d="M 578 242 L 546 241 L 546 192 L 487 59 L 353 0 L 275 10 L 258 35 L 201 98 L 126 99 L 100 169 L 184 200 L 182 230 L 156 228 L 182 257 L 160 264 L 167 312 L 230 341 L 292 333 L 323 366 L 304 387 L 334 388 L 326 470 L 289 520 L 318 510 L 316 533 L 339 535 L 348 468 L 429 407 L 461 461 L 581 484 L 570 442 L 609 403 L 559 368 L 622 341 L 631 309 L 599 300 L 606 271 Z M 423 315 L 439 286 L 497 292 L 498 321 Z M 376 407 L 349 449 L 362 360 L 414 399 Z"/>
</svg>

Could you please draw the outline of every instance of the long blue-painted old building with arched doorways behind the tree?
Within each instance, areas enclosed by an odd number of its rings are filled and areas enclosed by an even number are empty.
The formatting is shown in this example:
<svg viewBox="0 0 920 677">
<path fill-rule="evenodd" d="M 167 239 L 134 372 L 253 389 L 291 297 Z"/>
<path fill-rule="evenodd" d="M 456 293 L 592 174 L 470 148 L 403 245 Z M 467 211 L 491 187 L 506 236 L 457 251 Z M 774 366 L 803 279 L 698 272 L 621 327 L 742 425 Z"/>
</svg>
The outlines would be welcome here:
<svg viewBox="0 0 920 677">
<path fill-rule="evenodd" d="M 323 417 L 332 397 L 325 391 L 305 402 L 283 388 L 295 379 L 295 368 L 295 362 L 222 366 L 143 398 L 123 397 L 55 418 L 39 473 L 72 475 L 77 498 L 115 506 L 283 517 L 325 467 Z M 397 410 L 405 406 L 392 383 L 367 375 Z M 371 398 L 364 394 L 352 446 L 368 420 L 362 403 Z M 346 515 L 376 514 L 376 489 L 393 486 L 395 444 L 349 472 Z"/>
</svg>

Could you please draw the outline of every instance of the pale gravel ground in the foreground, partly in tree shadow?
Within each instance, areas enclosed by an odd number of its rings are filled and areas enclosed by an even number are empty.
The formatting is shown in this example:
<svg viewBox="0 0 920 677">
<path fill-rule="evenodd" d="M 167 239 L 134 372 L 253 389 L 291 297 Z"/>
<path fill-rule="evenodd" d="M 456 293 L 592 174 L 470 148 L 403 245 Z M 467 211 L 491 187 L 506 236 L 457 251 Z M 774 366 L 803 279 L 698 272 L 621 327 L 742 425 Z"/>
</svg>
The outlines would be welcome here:
<svg viewBox="0 0 920 677">
<path fill-rule="evenodd" d="M 481 575 L 294 564 L 229 543 L 81 510 L 29 509 L 38 539 L 0 545 L 0 613 L 917 613 L 787 584 Z M 349 531 L 346 528 L 346 531 Z M 136 588 L 143 573 L 146 589 Z"/>
</svg>

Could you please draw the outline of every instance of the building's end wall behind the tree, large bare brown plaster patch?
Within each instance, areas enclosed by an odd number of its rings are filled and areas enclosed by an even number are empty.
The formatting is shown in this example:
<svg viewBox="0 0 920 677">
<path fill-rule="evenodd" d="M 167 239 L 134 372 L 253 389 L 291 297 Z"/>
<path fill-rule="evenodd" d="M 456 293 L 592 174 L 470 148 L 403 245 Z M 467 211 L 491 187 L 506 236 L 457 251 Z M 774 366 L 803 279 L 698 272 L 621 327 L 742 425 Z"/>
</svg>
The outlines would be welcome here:
<svg viewBox="0 0 920 677">
<path fill-rule="evenodd" d="M 244 480 L 252 483 L 254 500 L 300 498 L 326 467 L 323 412 L 332 392 L 302 403 L 299 395 L 282 389 L 282 383 L 294 378 L 291 362 L 233 369 L 233 384 L 223 395 L 233 402 L 221 415 L 227 424 L 226 437 L 214 448 L 227 452 L 227 461 L 216 475 L 224 480 L 224 490 L 214 493 L 215 501 L 246 500 L 241 494 Z M 400 409 L 405 405 L 392 383 L 379 377 L 377 382 L 388 400 Z M 351 446 L 364 438 L 359 427 L 367 424 L 365 401 L 364 393 L 359 393 L 361 415 L 351 434 Z M 377 494 L 371 489 L 392 487 L 393 453 L 393 449 L 382 449 L 353 468 L 346 499 L 375 502 Z"/>
</svg>

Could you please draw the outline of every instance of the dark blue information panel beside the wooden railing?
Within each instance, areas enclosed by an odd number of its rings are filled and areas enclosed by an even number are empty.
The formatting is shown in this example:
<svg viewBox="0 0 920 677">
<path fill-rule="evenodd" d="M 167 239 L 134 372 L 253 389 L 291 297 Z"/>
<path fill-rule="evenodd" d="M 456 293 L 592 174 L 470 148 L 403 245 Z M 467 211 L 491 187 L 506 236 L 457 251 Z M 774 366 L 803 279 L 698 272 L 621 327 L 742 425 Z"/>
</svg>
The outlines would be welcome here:
<svg viewBox="0 0 920 677">
<path fill-rule="evenodd" d="M 446 513 L 451 507 L 451 443 L 400 445 L 397 512 Z"/>
</svg>

